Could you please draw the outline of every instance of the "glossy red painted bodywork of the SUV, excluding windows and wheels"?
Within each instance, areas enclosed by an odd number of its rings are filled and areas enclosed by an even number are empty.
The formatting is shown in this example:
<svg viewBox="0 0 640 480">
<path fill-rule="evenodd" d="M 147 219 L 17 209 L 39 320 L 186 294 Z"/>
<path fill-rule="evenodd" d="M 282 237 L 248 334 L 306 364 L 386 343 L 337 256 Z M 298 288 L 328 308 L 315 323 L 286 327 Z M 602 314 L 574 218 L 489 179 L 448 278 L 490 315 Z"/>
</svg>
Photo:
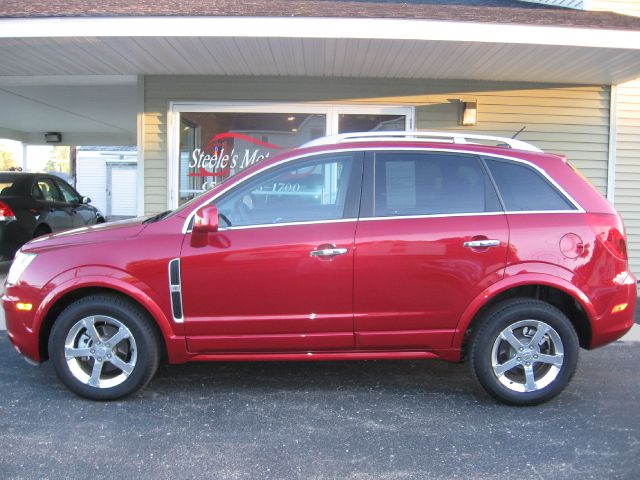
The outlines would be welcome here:
<svg viewBox="0 0 640 480">
<path fill-rule="evenodd" d="M 451 215 L 349 220 L 183 232 L 198 206 L 256 172 L 301 156 L 340 150 L 461 151 L 530 162 L 586 212 Z M 424 142 L 357 142 L 299 149 L 236 175 L 155 223 L 140 220 L 52 235 L 3 296 L 9 337 L 44 360 L 55 305 L 79 289 L 110 289 L 144 307 L 168 360 L 327 360 L 461 356 L 480 309 L 509 289 L 547 285 L 570 295 L 590 326 L 589 347 L 633 325 L 636 280 L 608 240 L 624 230 L 615 209 L 555 155 Z M 568 236 L 567 236 L 568 235 Z M 614 235 L 615 236 L 615 235 Z M 465 241 L 496 239 L 491 249 Z M 323 245 L 347 248 L 312 258 Z M 619 253 L 619 252 L 618 252 Z M 168 262 L 180 258 L 184 321 L 172 316 Z M 34 305 L 19 311 L 17 302 Z M 612 313 L 615 306 L 626 309 Z M 54 309 L 54 310 L 52 310 Z M 43 344 L 44 342 L 44 344 Z"/>
</svg>

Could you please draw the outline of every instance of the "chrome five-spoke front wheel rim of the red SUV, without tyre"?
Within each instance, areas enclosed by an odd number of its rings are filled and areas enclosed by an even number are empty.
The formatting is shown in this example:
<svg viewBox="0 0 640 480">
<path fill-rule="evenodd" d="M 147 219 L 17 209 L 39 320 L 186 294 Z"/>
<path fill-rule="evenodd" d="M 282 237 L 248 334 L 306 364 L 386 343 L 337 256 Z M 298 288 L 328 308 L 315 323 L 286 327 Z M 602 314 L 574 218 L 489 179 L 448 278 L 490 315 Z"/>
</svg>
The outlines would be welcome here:
<svg viewBox="0 0 640 480">
<path fill-rule="evenodd" d="M 77 321 L 65 339 L 64 355 L 71 374 L 96 388 L 120 385 L 138 358 L 136 340 L 120 321 L 94 315 Z"/>
</svg>

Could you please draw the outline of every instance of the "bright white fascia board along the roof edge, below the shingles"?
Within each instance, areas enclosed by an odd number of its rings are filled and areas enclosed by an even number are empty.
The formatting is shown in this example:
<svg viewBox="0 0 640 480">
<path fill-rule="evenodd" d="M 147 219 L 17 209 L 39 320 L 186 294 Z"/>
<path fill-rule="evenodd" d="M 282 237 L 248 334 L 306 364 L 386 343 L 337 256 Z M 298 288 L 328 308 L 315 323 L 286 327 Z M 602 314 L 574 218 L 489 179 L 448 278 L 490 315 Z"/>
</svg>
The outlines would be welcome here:
<svg viewBox="0 0 640 480">
<path fill-rule="evenodd" d="M 0 38 L 47 37 L 340 38 L 640 49 L 640 30 L 438 20 L 301 17 L 0 19 Z"/>
</svg>

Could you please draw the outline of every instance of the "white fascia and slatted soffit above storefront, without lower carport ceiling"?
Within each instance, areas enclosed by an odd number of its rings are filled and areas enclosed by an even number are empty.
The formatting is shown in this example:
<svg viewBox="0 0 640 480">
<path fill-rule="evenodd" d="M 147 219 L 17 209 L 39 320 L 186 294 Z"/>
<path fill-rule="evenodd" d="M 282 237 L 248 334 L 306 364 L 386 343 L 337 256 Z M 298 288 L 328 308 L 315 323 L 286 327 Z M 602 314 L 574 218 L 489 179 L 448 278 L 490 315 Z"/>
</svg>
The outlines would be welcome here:
<svg viewBox="0 0 640 480">
<path fill-rule="evenodd" d="M 206 74 L 610 84 L 640 76 L 640 31 L 405 19 L 0 19 L 0 65 L 0 78 Z"/>
</svg>

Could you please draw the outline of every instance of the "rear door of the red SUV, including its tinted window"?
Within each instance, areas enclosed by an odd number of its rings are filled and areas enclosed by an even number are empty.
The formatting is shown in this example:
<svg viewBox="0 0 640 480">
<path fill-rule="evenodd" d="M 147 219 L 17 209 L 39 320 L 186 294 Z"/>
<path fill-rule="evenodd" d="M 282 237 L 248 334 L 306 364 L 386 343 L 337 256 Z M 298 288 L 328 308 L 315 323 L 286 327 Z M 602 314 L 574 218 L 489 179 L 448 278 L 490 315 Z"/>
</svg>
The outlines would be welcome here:
<svg viewBox="0 0 640 480">
<path fill-rule="evenodd" d="M 448 348 L 465 307 L 502 278 L 508 245 L 479 158 L 371 153 L 356 233 L 356 347 Z"/>
</svg>

